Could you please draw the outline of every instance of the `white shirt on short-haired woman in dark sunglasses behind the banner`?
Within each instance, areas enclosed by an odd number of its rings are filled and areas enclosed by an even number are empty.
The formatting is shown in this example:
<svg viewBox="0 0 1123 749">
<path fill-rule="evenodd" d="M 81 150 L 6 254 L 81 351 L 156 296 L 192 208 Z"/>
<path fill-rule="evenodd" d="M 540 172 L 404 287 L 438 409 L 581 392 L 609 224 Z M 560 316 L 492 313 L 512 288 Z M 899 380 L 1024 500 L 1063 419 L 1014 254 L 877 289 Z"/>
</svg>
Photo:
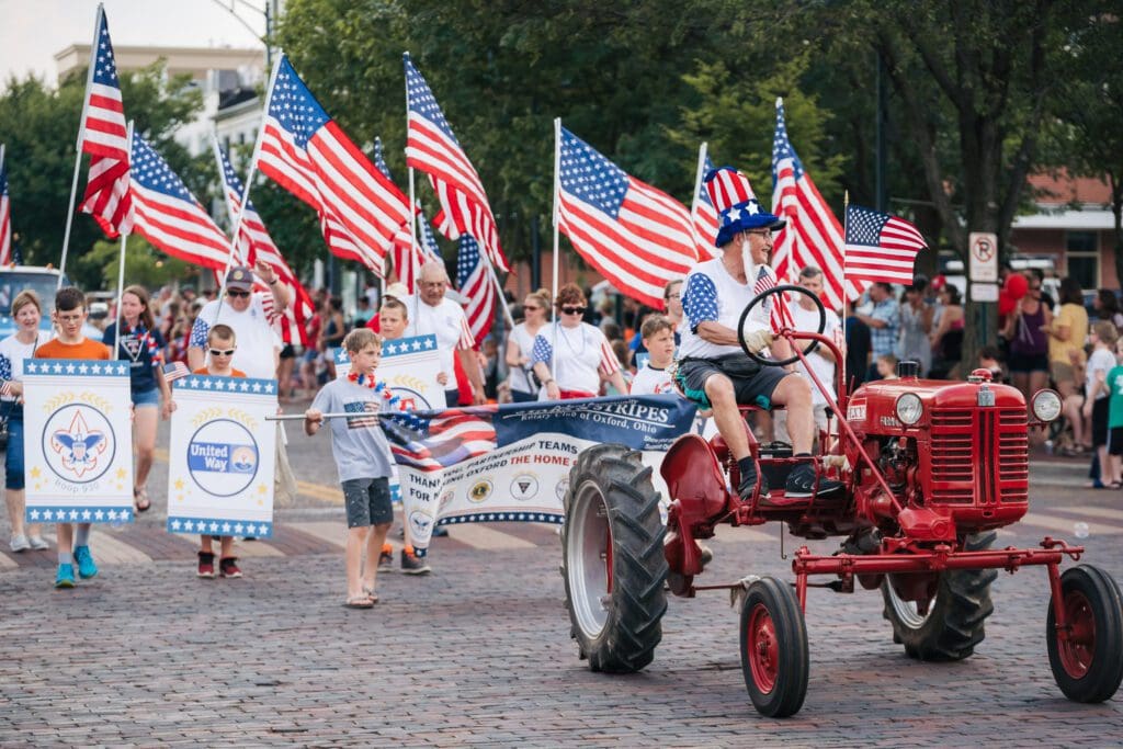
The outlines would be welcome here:
<svg viewBox="0 0 1123 749">
<path fill-rule="evenodd" d="M 599 373 L 611 375 L 620 369 L 617 355 L 612 353 L 604 334 L 587 322 L 578 322 L 576 328 L 565 328 L 560 322 L 542 326 L 535 338 L 530 360 L 532 364 L 545 362 L 560 390 L 576 390 L 594 395 L 601 390 Z M 538 398 L 546 399 L 545 387 L 538 392 Z"/>
</svg>

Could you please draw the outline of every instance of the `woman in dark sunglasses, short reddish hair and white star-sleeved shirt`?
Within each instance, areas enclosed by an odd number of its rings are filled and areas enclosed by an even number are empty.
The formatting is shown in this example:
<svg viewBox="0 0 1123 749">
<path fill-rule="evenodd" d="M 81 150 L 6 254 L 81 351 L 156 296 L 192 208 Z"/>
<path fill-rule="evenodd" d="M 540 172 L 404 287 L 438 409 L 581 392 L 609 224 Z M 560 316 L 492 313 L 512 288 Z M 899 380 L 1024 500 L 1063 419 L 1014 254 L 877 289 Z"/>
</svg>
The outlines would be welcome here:
<svg viewBox="0 0 1123 749">
<path fill-rule="evenodd" d="M 620 363 L 604 334 L 581 321 L 587 307 L 581 287 L 574 283 L 562 286 L 555 305 L 558 321 L 542 327 L 531 353 L 535 375 L 542 383 L 538 400 L 594 398 L 601 390 L 602 374 L 617 392 L 627 393 Z"/>
</svg>

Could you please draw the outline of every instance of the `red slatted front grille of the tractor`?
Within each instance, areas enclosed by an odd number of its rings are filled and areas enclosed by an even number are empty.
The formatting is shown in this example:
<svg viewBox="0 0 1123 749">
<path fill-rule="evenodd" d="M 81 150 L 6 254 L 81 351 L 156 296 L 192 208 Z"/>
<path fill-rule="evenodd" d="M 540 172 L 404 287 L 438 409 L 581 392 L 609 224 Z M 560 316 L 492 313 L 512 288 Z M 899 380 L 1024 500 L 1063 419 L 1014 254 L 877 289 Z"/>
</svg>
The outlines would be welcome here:
<svg viewBox="0 0 1123 749">
<path fill-rule="evenodd" d="M 1026 502 L 1028 449 L 1024 409 L 934 409 L 932 500 L 980 506 Z"/>
</svg>

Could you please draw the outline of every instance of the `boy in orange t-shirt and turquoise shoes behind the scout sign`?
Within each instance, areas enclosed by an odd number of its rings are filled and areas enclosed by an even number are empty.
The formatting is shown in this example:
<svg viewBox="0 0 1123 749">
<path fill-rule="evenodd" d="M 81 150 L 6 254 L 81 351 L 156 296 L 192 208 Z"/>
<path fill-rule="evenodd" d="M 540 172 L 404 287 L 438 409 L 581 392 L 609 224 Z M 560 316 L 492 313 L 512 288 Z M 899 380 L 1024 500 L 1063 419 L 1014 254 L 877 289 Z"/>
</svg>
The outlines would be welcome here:
<svg viewBox="0 0 1123 749">
<path fill-rule="evenodd" d="M 74 286 L 65 286 L 55 293 L 54 322 L 58 337 L 40 344 L 35 350 L 37 359 L 97 359 L 109 360 L 109 348 L 103 344 L 88 339 L 82 334 L 82 327 L 90 316 L 85 307 L 85 295 Z M 56 541 L 58 544 L 58 574 L 55 576 L 55 587 L 74 587 L 74 564 L 77 563 L 77 574 L 82 579 L 89 579 L 98 574 L 98 565 L 90 551 L 90 523 L 77 523 L 75 531 L 72 523 L 56 524 Z"/>
</svg>

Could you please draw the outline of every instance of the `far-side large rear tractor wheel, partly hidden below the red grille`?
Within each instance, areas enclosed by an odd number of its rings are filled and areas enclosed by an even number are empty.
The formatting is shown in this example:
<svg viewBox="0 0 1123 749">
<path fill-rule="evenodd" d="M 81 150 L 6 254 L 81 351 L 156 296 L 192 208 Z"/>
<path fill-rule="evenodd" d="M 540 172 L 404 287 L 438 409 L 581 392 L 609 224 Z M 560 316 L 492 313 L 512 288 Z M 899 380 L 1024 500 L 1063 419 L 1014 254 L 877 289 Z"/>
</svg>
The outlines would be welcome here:
<svg viewBox="0 0 1123 749">
<path fill-rule="evenodd" d="M 967 551 L 987 549 L 997 538 L 994 531 L 968 536 Z M 905 601 L 893 587 L 892 575 L 882 582 L 885 618 L 893 624 L 893 641 L 905 646 L 910 658 L 962 660 L 986 637 L 984 622 L 994 611 L 990 583 L 994 569 L 957 569 L 940 573 L 935 595 L 926 605 Z"/>
</svg>

